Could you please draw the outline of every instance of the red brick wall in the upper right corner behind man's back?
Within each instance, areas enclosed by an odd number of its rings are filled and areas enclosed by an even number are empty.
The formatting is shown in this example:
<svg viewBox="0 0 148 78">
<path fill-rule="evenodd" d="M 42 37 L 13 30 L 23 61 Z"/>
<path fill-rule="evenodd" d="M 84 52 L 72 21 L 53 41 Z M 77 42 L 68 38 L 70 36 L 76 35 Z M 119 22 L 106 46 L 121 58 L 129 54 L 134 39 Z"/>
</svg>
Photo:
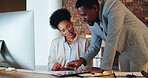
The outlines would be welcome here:
<svg viewBox="0 0 148 78">
<path fill-rule="evenodd" d="M 148 27 L 148 0 L 121 0 Z"/>
</svg>

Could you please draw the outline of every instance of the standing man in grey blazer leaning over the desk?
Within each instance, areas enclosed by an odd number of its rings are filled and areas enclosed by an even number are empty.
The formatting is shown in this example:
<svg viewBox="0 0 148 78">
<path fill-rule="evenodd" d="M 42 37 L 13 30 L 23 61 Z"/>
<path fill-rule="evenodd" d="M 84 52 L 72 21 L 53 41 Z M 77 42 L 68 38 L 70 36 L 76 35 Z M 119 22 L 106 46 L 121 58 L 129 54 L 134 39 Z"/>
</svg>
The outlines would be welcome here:
<svg viewBox="0 0 148 78">
<path fill-rule="evenodd" d="M 76 8 L 91 31 L 91 46 L 81 59 L 69 62 L 68 68 L 77 69 L 81 64 L 89 63 L 99 52 L 104 40 L 101 66 L 93 70 L 111 70 L 116 52 L 136 65 L 134 71 L 148 70 L 148 28 L 122 2 L 77 0 Z"/>
</svg>

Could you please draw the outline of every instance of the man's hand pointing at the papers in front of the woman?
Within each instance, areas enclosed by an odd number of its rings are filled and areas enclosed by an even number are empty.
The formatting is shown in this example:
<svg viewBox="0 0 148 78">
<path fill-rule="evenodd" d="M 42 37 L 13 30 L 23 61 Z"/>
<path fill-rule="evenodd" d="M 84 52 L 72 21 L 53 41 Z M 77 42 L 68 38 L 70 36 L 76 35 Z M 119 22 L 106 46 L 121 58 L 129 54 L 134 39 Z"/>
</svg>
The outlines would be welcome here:
<svg viewBox="0 0 148 78">
<path fill-rule="evenodd" d="M 77 70 L 85 60 L 83 58 L 67 63 L 66 68 Z"/>
</svg>

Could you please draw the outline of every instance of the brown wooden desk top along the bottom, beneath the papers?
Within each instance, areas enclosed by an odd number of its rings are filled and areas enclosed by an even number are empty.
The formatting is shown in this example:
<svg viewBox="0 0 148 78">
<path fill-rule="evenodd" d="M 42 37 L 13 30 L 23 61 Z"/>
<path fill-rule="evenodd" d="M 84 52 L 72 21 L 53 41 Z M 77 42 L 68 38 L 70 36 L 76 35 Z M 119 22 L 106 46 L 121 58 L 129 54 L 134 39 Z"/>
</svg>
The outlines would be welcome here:
<svg viewBox="0 0 148 78">
<path fill-rule="evenodd" d="M 110 76 L 103 76 L 99 78 L 114 78 L 114 75 L 112 74 L 111 71 L 105 71 L 105 72 L 110 73 Z M 57 77 L 49 74 L 17 72 L 17 71 L 0 71 L 0 78 L 57 78 Z M 79 78 L 79 77 L 70 77 L 70 78 Z M 85 78 L 90 78 L 90 77 L 85 77 Z"/>
</svg>

